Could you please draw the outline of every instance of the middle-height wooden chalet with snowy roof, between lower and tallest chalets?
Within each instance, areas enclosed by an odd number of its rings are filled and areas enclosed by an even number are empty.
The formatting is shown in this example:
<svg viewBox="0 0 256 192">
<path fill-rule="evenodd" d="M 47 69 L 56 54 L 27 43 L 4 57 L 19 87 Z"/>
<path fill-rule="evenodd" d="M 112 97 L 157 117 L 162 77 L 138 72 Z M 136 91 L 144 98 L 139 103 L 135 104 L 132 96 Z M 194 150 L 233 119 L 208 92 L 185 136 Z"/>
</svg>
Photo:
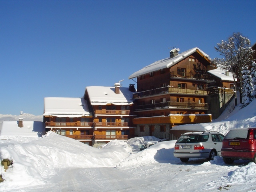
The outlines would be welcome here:
<svg viewBox="0 0 256 192">
<path fill-rule="evenodd" d="M 129 88 L 120 87 L 120 83 L 115 87 L 86 87 L 84 98 L 90 103 L 94 116 L 93 146 L 134 137 L 133 92 L 132 84 Z"/>
</svg>

